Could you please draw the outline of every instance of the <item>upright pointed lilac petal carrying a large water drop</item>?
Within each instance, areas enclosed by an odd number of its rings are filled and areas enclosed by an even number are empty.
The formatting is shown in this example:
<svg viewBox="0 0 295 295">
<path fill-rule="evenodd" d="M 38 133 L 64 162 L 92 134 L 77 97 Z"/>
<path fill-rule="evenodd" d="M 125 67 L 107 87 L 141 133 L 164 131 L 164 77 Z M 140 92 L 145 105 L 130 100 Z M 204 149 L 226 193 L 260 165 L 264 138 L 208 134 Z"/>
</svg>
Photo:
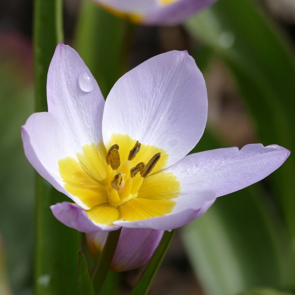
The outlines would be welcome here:
<svg viewBox="0 0 295 295">
<path fill-rule="evenodd" d="M 70 134 L 75 151 L 101 141 L 104 98 L 94 77 L 78 53 L 59 43 L 47 74 L 48 112 Z"/>
</svg>

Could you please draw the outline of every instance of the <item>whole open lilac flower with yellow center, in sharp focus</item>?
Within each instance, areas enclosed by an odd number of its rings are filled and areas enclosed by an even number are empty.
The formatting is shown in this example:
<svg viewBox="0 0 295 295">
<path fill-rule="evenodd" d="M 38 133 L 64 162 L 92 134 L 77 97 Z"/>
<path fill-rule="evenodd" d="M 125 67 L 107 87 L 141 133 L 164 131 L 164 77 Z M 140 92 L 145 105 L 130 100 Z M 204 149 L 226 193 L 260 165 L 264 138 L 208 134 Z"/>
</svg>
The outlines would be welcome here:
<svg viewBox="0 0 295 295">
<path fill-rule="evenodd" d="M 81 232 L 172 230 L 219 196 L 268 176 L 289 156 L 278 145 L 187 154 L 207 120 L 204 78 L 186 51 L 157 55 L 120 78 L 106 102 L 78 53 L 59 44 L 47 75 L 48 112 L 22 126 L 37 172 L 74 203 L 50 208 Z"/>
</svg>

